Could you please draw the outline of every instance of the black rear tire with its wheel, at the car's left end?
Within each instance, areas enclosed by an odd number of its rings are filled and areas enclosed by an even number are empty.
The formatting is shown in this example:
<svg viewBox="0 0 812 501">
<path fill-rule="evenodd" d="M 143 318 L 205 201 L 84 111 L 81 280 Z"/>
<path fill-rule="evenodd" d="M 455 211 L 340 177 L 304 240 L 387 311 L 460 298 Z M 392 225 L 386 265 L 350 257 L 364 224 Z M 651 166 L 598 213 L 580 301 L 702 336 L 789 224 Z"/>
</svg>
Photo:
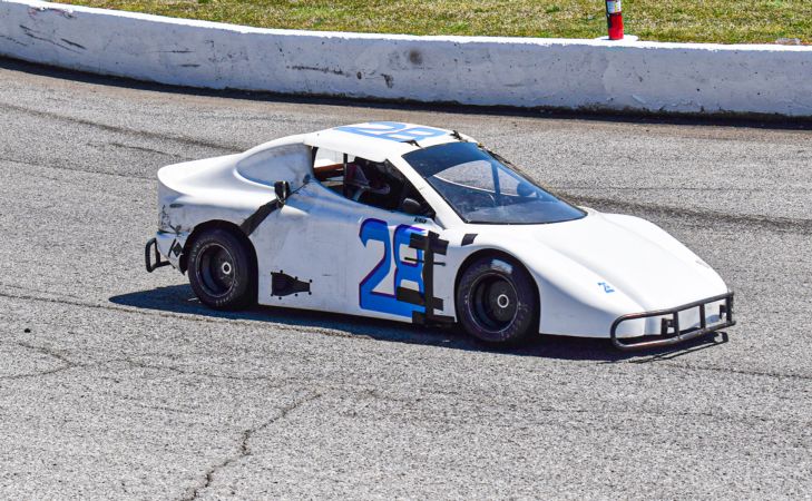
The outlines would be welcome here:
<svg viewBox="0 0 812 501">
<path fill-rule="evenodd" d="M 256 302 L 256 269 L 246 245 L 233 233 L 214 228 L 192 244 L 189 284 L 203 304 L 241 310 Z"/>
</svg>

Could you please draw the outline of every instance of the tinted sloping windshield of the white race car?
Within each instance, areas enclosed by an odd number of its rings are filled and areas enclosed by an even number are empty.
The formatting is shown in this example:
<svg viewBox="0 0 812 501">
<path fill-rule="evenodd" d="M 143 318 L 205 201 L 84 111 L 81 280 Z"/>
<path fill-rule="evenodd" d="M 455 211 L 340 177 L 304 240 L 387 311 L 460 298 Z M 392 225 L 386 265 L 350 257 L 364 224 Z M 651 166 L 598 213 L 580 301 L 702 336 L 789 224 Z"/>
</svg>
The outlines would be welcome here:
<svg viewBox="0 0 812 501">
<path fill-rule="evenodd" d="M 403 158 L 466 223 L 544 224 L 586 215 L 473 143 L 447 143 Z"/>
</svg>

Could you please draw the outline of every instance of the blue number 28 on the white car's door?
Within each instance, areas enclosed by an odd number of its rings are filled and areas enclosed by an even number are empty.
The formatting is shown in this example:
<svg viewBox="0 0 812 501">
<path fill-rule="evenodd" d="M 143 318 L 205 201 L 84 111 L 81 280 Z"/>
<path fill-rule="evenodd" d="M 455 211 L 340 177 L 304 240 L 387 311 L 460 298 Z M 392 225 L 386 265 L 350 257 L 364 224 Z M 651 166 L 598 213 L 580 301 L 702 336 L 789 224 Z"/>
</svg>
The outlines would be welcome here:
<svg viewBox="0 0 812 501">
<path fill-rule="evenodd" d="M 361 243 L 366 246 L 370 240 L 383 244 L 383 257 L 378 262 L 374 268 L 364 277 L 358 287 L 359 306 L 362 310 L 372 310 L 374 312 L 389 313 L 392 315 L 411 317 L 412 312 L 423 312 L 422 306 L 398 301 L 394 293 L 403 281 L 414 282 L 418 284 L 420 293 L 423 293 L 423 252 L 418 250 L 418 263 L 409 263 L 403 261 L 400 249 L 409 245 L 412 233 L 421 233 L 421 228 L 414 226 L 400 225 L 395 228 L 392 240 L 389 239 L 389 225 L 381 219 L 366 219 L 361 225 L 359 237 Z M 394 284 L 393 294 L 375 292 L 381 282 L 383 282 L 392 268 L 392 256 L 394 256 Z"/>
</svg>

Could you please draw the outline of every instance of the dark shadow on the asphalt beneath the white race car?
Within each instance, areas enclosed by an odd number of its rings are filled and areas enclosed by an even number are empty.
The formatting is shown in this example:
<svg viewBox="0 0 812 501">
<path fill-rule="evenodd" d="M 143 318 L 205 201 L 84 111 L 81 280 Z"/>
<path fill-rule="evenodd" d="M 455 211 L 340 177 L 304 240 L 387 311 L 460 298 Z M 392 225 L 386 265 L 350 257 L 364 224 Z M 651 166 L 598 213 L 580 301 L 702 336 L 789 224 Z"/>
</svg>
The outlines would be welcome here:
<svg viewBox="0 0 812 501">
<path fill-rule="evenodd" d="M 274 306 L 255 306 L 241 312 L 216 311 L 200 304 L 188 284 L 121 294 L 110 297 L 109 301 L 117 305 L 140 310 L 155 310 L 223 320 L 283 324 L 294 327 L 321 328 L 325 330 L 327 334 L 346 337 L 372 338 L 517 356 L 594 361 L 600 363 L 622 361 L 648 363 L 665 361 L 700 350 L 718 346 L 727 342 L 727 335 L 725 333 L 718 333 L 717 336 L 701 337 L 671 348 L 620 352 L 608 340 L 539 335 L 531 336 L 528 342 L 520 346 L 503 347 L 473 340 L 459 332 L 457 327 L 411 325 L 353 315 Z"/>
</svg>

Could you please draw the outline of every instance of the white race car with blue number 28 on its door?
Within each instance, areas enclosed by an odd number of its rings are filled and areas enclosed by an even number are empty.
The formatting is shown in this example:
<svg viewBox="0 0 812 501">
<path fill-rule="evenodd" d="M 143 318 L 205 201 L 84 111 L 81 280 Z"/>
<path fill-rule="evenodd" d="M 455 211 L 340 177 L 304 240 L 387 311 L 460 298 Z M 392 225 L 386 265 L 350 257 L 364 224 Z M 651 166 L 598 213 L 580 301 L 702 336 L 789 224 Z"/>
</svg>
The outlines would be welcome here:
<svg viewBox="0 0 812 501">
<path fill-rule="evenodd" d="M 666 232 L 570 205 L 453 130 L 336 127 L 158 179 L 147 271 L 188 273 L 214 308 L 258 302 L 620 348 L 734 324 L 733 293 Z"/>
</svg>

